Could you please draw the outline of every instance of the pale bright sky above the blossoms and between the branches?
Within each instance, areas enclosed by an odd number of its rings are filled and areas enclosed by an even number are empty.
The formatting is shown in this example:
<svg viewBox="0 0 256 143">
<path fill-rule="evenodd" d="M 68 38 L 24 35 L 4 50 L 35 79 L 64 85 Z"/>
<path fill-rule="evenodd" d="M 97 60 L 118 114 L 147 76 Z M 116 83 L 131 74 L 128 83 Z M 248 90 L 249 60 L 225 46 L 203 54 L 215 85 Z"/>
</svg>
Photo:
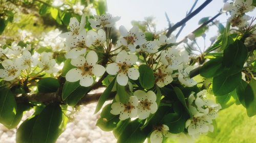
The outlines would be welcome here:
<svg viewBox="0 0 256 143">
<path fill-rule="evenodd" d="M 168 27 L 164 12 L 168 14 L 172 23 L 176 23 L 185 17 L 186 12 L 189 11 L 194 2 L 193 0 L 107 0 L 107 5 L 108 13 L 121 16 L 121 19 L 116 23 L 117 28 L 120 25 L 124 25 L 127 29 L 130 29 L 132 27 L 132 20 L 142 21 L 144 17 L 154 16 L 157 23 L 157 31 L 160 31 Z M 199 0 L 194 10 L 204 2 L 205 0 Z M 223 0 L 212 1 L 198 15 L 194 16 L 186 23 L 178 41 L 194 31 L 199 26 L 198 21 L 202 17 L 215 16 L 223 5 Z M 247 15 L 256 16 L 256 11 L 249 12 Z M 229 15 L 224 13 L 217 19 L 225 26 L 228 17 Z M 212 36 L 216 36 L 217 31 L 217 27 L 212 26 L 206 38 L 209 39 Z"/>
</svg>

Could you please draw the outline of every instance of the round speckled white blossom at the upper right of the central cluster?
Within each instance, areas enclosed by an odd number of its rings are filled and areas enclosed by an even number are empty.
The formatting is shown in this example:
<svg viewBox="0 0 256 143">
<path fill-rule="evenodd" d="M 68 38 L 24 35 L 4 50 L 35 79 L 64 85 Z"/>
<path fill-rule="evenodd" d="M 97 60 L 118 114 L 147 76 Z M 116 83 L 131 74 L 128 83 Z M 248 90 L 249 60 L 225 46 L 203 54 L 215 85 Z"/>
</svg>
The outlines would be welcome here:
<svg viewBox="0 0 256 143">
<path fill-rule="evenodd" d="M 177 70 L 179 65 L 182 64 L 182 56 L 176 48 L 168 48 L 161 53 L 161 62 L 163 65 L 168 66 L 169 69 Z"/>
</svg>

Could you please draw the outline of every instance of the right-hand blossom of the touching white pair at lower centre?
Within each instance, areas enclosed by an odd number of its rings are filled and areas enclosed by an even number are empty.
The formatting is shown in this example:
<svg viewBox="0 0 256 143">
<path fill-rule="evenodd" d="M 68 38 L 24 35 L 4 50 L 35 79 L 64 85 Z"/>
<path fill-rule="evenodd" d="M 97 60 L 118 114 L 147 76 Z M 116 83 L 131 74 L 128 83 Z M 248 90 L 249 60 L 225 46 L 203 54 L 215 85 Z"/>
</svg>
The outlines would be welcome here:
<svg viewBox="0 0 256 143">
<path fill-rule="evenodd" d="M 145 93 L 142 90 L 137 90 L 134 95 L 139 99 L 138 105 L 138 115 L 139 119 L 146 119 L 150 116 L 150 113 L 155 113 L 157 111 L 156 94 L 153 91 L 148 91 Z"/>
</svg>

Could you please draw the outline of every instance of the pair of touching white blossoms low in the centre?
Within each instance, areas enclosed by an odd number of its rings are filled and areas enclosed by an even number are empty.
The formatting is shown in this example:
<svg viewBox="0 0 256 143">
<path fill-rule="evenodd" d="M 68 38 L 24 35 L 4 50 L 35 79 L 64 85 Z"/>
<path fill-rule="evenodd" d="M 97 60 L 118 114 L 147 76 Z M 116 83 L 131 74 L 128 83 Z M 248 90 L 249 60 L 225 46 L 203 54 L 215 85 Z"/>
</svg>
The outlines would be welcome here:
<svg viewBox="0 0 256 143">
<path fill-rule="evenodd" d="M 110 112 L 113 115 L 120 115 L 120 120 L 135 118 L 137 116 L 143 120 L 150 116 L 150 113 L 153 114 L 157 111 L 156 99 L 156 94 L 153 91 L 145 93 L 142 90 L 137 90 L 134 92 L 134 96 L 131 96 L 126 103 L 113 103 Z"/>
</svg>

